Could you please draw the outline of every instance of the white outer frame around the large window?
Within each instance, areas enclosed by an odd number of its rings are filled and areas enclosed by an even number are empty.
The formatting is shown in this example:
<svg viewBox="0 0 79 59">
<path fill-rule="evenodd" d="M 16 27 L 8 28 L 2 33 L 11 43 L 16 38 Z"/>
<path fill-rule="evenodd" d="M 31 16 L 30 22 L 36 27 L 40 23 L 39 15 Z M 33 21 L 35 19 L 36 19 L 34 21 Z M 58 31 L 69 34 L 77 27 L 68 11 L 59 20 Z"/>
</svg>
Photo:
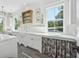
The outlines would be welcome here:
<svg viewBox="0 0 79 59">
<path fill-rule="evenodd" d="M 58 7 L 58 6 L 64 6 L 64 8 L 63 8 L 63 32 L 55 32 L 55 31 L 51 31 L 51 32 L 49 32 L 48 31 L 48 17 L 47 17 L 47 12 L 48 12 L 48 9 L 49 8 L 54 8 L 54 7 Z M 52 5 L 48 5 L 48 7 L 46 7 L 46 19 L 47 19 L 47 32 L 48 33 L 64 33 L 64 17 L 65 17 L 65 5 L 64 5 L 64 2 L 62 2 L 62 3 L 55 3 L 55 4 L 52 4 Z"/>
</svg>

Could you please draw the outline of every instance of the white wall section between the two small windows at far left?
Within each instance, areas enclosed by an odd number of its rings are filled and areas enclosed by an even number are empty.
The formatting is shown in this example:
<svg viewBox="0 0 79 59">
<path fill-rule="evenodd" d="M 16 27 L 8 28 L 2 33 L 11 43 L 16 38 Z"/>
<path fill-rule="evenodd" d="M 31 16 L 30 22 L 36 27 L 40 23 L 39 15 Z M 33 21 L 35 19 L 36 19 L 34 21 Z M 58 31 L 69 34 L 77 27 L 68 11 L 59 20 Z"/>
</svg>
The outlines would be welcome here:
<svg viewBox="0 0 79 59">
<path fill-rule="evenodd" d="M 4 31 L 12 31 L 12 30 L 13 30 L 12 13 L 6 13 L 4 20 Z"/>
</svg>

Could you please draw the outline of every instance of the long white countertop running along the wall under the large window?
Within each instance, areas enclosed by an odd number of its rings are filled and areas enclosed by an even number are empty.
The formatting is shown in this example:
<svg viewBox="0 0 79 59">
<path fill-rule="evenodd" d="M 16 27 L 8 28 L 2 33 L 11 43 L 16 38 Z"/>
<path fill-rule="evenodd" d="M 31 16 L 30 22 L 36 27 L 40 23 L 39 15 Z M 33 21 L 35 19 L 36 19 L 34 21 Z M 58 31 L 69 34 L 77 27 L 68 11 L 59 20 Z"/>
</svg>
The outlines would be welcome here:
<svg viewBox="0 0 79 59">
<path fill-rule="evenodd" d="M 9 33 L 19 33 L 19 34 L 31 34 L 31 35 L 40 35 L 40 36 L 46 36 L 46 37 L 59 37 L 59 38 L 65 38 L 65 39 L 74 39 L 78 40 L 79 38 L 72 35 L 66 35 L 63 33 L 35 33 L 35 32 L 9 32 Z"/>
</svg>

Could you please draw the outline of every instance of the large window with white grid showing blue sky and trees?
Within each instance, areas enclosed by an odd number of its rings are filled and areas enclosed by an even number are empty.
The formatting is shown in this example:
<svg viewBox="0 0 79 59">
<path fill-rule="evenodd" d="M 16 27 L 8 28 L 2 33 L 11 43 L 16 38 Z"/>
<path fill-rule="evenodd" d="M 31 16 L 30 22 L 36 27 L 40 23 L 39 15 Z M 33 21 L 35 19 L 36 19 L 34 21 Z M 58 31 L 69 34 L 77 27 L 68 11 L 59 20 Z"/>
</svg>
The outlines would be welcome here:
<svg viewBox="0 0 79 59">
<path fill-rule="evenodd" d="M 47 8 L 48 32 L 63 32 L 64 6 Z"/>
</svg>

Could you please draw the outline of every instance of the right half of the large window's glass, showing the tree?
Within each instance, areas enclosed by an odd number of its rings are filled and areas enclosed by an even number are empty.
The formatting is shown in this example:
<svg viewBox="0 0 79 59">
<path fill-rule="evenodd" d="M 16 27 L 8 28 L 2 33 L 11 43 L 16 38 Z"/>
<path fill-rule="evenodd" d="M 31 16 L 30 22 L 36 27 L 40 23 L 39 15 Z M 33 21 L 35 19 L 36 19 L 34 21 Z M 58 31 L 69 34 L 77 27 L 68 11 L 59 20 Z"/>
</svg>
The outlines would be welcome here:
<svg viewBox="0 0 79 59">
<path fill-rule="evenodd" d="M 57 32 L 63 32 L 63 6 L 56 7 L 55 12 L 55 28 Z"/>
</svg>

